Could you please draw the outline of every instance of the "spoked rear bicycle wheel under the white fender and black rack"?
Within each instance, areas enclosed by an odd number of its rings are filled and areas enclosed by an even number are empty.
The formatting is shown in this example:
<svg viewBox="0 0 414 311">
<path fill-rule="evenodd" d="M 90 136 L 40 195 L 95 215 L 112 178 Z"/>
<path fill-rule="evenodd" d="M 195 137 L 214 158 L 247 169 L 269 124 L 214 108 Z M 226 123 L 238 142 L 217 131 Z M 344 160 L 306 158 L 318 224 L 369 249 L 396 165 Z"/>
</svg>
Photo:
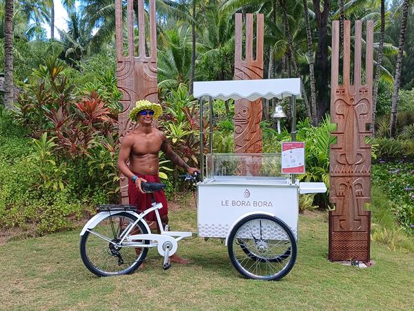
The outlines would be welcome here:
<svg viewBox="0 0 414 311">
<path fill-rule="evenodd" d="M 114 276 L 137 270 L 144 261 L 148 248 L 119 243 L 135 220 L 135 216 L 121 211 L 103 218 L 93 229 L 88 229 L 83 234 L 80 243 L 81 258 L 90 272 L 97 276 Z M 129 235 L 132 234 L 148 234 L 148 230 L 139 221 Z M 134 242 L 149 244 L 148 240 Z"/>
</svg>

